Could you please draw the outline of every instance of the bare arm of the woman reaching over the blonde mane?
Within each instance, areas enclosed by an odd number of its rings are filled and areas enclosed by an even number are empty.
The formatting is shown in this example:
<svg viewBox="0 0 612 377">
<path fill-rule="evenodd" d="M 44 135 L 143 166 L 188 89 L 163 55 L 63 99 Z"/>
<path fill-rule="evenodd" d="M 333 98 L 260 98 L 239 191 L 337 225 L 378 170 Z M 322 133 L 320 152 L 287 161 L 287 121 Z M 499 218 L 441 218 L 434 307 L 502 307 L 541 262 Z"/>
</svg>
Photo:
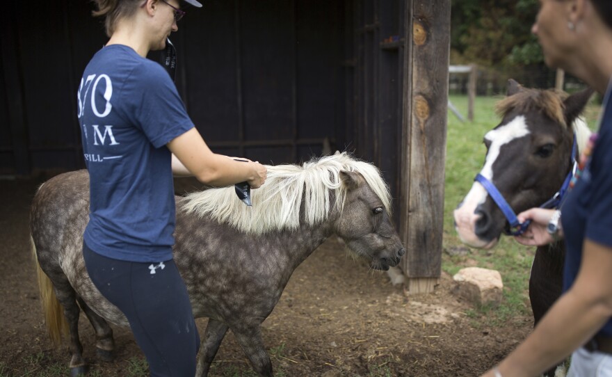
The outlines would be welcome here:
<svg viewBox="0 0 612 377">
<path fill-rule="evenodd" d="M 234 161 L 213 153 L 197 129 L 192 128 L 167 144 L 172 152 L 172 173 L 193 175 L 211 186 L 248 182 L 257 189 L 266 180 L 266 167 L 257 162 Z"/>
</svg>

